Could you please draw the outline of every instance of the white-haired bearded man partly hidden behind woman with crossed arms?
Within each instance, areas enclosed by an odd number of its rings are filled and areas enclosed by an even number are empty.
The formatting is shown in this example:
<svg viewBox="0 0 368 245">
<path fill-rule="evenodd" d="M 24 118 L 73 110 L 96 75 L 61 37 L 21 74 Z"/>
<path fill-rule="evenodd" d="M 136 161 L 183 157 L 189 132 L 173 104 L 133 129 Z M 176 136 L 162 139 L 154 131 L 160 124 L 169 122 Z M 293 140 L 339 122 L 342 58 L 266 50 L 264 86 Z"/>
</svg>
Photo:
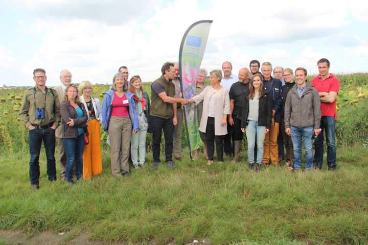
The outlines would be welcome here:
<svg viewBox="0 0 368 245">
<path fill-rule="evenodd" d="M 64 69 L 60 72 L 60 82 L 61 85 L 58 87 L 55 87 L 54 89 L 56 90 L 56 92 L 59 95 L 59 101 L 60 104 L 63 103 L 64 100 L 64 95 L 65 95 L 65 89 L 66 86 L 68 84 L 72 83 L 72 73 L 70 71 L 68 71 L 67 69 Z M 64 145 L 62 143 L 62 118 L 60 121 L 60 125 L 59 127 L 56 129 L 55 131 L 55 135 L 57 137 L 58 140 L 58 149 L 59 149 L 59 164 L 60 164 L 60 169 L 61 169 L 61 180 L 65 181 L 66 177 L 65 177 L 65 165 L 66 165 L 66 153 L 65 153 L 65 149 L 64 149 Z M 73 166 L 73 170 L 75 169 L 75 163 Z"/>
</svg>

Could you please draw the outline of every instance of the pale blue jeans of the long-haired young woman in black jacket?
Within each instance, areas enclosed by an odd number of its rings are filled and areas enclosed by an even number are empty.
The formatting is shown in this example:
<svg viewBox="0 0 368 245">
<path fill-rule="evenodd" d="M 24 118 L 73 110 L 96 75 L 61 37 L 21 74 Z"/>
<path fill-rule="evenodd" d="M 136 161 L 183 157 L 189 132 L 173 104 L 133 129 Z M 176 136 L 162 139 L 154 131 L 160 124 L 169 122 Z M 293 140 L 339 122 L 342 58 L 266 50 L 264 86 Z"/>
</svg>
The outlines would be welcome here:
<svg viewBox="0 0 368 245">
<path fill-rule="evenodd" d="M 258 126 L 258 121 L 249 120 L 248 125 L 245 128 L 245 133 L 248 141 L 248 161 L 249 163 L 254 163 L 254 148 L 256 143 L 256 133 L 257 133 L 257 163 L 262 163 L 263 158 L 263 144 L 265 139 L 266 127 Z"/>
</svg>

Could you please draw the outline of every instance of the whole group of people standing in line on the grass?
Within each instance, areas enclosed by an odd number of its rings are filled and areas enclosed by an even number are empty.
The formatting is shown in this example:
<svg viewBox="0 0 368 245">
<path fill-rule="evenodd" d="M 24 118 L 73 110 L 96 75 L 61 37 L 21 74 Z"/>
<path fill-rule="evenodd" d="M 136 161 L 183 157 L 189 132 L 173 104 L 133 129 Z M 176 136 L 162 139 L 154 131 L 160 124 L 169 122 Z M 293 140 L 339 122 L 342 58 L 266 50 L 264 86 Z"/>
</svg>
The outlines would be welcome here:
<svg viewBox="0 0 368 245">
<path fill-rule="evenodd" d="M 188 103 L 197 105 L 200 138 L 204 142 L 203 155 L 208 159 L 208 164 L 214 160 L 215 141 L 219 163 L 232 155 L 234 159 L 231 163 L 240 161 L 245 132 L 250 169 L 260 171 L 261 165 L 268 164 L 269 160 L 273 165 L 279 165 L 284 158 L 285 143 L 285 167 L 299 171 L 302 138 L 306 169 L 310 170 L 313 166 L 320 169 L 325 131 L 328 168 L 334 170 L 335 104 L 339 81 L 329 74 L 330 62 L 327 59 L 321 59 L 317 64 L 319 76 L 311 83 L 306 80 L 305 68 L 295 69 L 295 82 L 290 68 L 275 67 L 272 78 L 269 62 L 261 66 L 260 62 L 252 60 L 249 69 L 244 67 L 239 70 L 238 77 L 232 74 L 232 64 L 224 62 L 222 70 L 210 72 L 209 86 L 204 83 L 208 71 L 201 68 L 196 79 L 196 95 L 185 100 L 180 92 L 178 63 L 166 62 L 161 69 L 162 76 L 151 85 L 151 101 L 147 91 L 144 91 L 141 77 L 133 76 L 128 80 L 128 68 L 122 66 L 114 75 L 102 106 L 99 99 L 91 96 L 93 85 L 89 81 L 77 86 L 72 83 L 71 72 L 62 70 L 61 85 L 51 89 L 45 85 L 45 70 L 37 68 L 33 72 L 36 85 L 25 92 L 19 112 L 21 121 L 29 129 L 32 191 L 39 188 L 42 141 L 49 181 L 56 180 L 55 136 L 61 180 L 74 183 L 73 174 L 77 181 L 101 174 L 102 124 L 108 133 L 113 176 L 130 175 L 129 157 L 135 169 L 145 166 L 148 132 L 152 133 L 152 169 L 156 170 L 160 164 L 162 131 L 165 164 L 175 167 L 172 153 L 174 150 L 175 159 L 182 160 L 183 107 Z M 199 159 L 199 149 L 195 149 L 194 153 L 194 160 Z"/>
</svg>

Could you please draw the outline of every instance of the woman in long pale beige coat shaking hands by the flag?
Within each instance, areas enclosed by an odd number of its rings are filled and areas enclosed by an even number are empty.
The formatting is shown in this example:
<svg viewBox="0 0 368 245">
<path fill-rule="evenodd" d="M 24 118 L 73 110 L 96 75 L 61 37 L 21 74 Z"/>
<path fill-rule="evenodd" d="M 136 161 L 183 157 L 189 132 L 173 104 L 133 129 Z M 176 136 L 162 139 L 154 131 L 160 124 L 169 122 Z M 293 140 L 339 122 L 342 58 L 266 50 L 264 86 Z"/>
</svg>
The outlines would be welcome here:
<svg viewBox="0 0 368 245">
<path fill-rule="evenodd" d="M 208 162 L 213 163 L 213 156 L 216 153 L 219 163 L 223 161 L 223 136 L 227 134 L 226 119 L 230 114 L 230 99 L 226 88 L 221 87 L 222 79 L 221 70 L 213 70 L 210 72 L 210 82 L 212 86 L 207 86 L 203 91 L 187 100 L 188 103 L 198 105 L 203 101 L 202 119 L 199 126 L 199 131 L 205 133 L 208 149 Z"/>
</svg>

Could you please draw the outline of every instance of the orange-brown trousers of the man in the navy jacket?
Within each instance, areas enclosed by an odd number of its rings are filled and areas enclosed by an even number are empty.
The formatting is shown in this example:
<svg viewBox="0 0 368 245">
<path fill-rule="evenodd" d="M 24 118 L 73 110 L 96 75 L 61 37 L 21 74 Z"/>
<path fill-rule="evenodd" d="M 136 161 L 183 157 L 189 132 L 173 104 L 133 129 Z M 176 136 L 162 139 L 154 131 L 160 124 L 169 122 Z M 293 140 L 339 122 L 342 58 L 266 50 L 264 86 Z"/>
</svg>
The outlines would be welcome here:
<svg viewBox="0 0 368 245">
<path fill-rule="evenodd" d="M 273 165 L 279 163 L 279 145 L 277 143 L 277 137 L 279 135 L 279 122 L 274 122 L 272 117 L 271 129 L 266 134 L 265 141 L 263 144 L 263 159 L 262 162 L 271 162 Z"/>
</svg>

